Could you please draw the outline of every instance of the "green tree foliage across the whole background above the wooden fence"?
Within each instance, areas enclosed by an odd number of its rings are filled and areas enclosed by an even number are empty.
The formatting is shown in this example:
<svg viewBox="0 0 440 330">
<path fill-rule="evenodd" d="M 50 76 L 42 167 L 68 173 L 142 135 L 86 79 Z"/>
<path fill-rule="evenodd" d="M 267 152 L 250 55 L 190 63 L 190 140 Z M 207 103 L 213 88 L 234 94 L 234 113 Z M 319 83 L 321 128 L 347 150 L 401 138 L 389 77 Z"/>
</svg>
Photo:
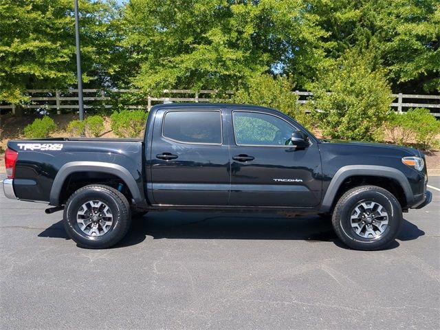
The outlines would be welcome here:
<svg viewBox="0 0 440 330">
<path fill-rule="evenodd" d="M 224 92 L 271 74 L 310 90 L 354 49 L 394 91 L 440 91 L 438 0 L 79 2 L 85 88 Z M 76 87 L 72 0 L 0 0 L 0 35 L 1 101 Z"/>
</svg>

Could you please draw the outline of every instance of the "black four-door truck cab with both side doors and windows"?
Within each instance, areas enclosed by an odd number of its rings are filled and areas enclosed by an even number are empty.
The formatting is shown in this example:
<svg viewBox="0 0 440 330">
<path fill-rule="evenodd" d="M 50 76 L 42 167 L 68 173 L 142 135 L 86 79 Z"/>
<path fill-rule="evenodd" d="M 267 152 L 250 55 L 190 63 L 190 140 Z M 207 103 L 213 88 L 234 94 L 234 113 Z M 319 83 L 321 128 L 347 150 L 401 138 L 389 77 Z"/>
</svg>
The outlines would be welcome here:
<svg viewBox="0 0 440 330">
<path fill-rule="evenodd" d="M 146 143 L 155 206 L 313 208 L 321 199 L 316 138 L 259 107 L 160 107 Z M 292 134 L 303 145 L 292 142 Z M 149 176 L 148 176 L 149 174 Z"/>
</svg>

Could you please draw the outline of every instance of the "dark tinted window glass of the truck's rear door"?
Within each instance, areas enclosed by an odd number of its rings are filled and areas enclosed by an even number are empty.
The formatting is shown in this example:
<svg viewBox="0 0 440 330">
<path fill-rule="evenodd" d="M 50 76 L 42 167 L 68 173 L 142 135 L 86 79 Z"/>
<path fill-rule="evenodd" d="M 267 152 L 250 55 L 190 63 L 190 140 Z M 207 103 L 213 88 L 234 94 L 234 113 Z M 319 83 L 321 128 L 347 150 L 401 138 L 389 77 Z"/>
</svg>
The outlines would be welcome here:
<svg viewBox="0 0 440 330">
<path fill-rule="evenodd" d="M 221 144 L 221 113 L 220 111 L 167 112 L 162 134 L 179 142 Z"/>
</svg>

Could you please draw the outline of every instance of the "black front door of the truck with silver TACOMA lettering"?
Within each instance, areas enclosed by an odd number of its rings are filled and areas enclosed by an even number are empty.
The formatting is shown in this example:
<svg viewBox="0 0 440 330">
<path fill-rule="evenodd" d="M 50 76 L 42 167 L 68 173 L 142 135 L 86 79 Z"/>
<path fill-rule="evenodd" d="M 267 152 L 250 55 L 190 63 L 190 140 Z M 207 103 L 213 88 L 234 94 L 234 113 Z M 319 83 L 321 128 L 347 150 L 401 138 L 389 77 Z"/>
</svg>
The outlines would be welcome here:
<svg viewBox="0 0 440 330">
<path fill-rule="evenodd" d="M 316 143 L 296 148 L 298 128 L 276 113 L 232 111 L 231 194 L 233 206 L 316 206 L 321 163 Z M 298 125 L 297 125 L 298 126 Z"/>
</svg>

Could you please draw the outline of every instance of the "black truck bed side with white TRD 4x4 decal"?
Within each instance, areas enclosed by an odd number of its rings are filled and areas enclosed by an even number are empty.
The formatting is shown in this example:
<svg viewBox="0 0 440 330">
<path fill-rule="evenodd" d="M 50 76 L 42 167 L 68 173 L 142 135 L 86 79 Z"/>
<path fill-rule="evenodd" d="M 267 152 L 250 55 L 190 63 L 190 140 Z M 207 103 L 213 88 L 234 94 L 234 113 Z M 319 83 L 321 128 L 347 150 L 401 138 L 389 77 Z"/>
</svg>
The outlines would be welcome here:
<svg viewBox="0 0 440 330">
<path fill-rule="evenodd" d="M 14 191 L 20 199 L 49 201 L 58 206 L 71 193 L 67 185 L 96 181 L 96 173 L 104 167 L 107 176 L 98 181 L 113 180 L 124 175 L 130 195 L 143 202 L 142 180 L 144 142 L 142 139 L 102 139 L 55 137 L 38 140 L 11 140 L 8 148 L 19 153 L 15 169 Z M 71 168 L 80 172 L 69 174 Z M 116 183 L 115 183 L 116 184 Z"/>
</svg>

